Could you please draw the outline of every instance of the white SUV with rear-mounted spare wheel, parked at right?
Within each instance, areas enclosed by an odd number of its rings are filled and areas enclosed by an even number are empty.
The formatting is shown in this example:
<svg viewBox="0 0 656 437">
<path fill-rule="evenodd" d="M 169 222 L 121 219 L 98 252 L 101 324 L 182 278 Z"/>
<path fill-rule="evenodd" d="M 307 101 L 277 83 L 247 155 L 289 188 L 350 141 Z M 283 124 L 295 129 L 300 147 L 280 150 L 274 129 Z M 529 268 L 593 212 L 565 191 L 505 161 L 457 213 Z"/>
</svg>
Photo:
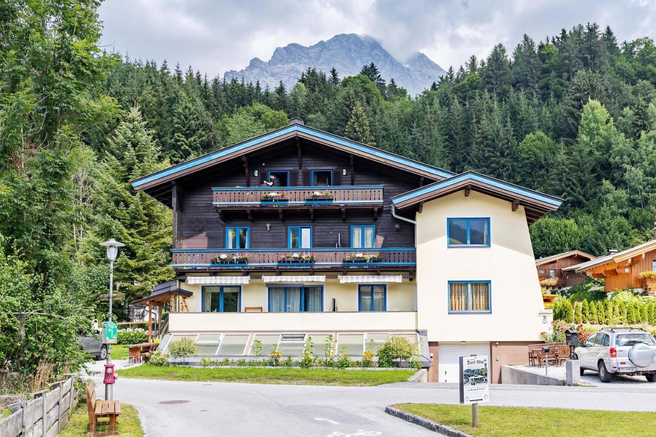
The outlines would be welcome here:
<svg viewBox="0 0 656 437">
<path fill-rule="evenodd" d="M 656 383 L 656 340 L 642 328 L 604 328 L 575 349 L 575 359 L 586 369 L 599 372 L 608 383 L 613 375 L 645 375 Z"/>
</svg>

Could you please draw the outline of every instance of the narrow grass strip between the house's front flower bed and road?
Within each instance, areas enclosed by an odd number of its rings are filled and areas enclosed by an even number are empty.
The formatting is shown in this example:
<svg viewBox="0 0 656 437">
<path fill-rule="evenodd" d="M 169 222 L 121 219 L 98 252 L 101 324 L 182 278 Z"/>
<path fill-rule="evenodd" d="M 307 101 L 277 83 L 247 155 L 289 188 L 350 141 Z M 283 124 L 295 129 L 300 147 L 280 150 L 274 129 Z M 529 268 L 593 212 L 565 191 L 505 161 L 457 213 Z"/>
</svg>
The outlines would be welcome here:
<svg viewBox="0 0 656 437">
<path fill-rule="evenodd" d="M 119 370 L 123 378 L 167 379 L 169 381 L 224 381 L 255 384 L 300 385 L 354 385 L 371 386 L 398 383 L 411 377 L 415 371 L 401 370 L 338 370 L 338 369 L 261 369 L 203 367 L 155 367 L 144 364 L 131 369 Z"/>
</svg>

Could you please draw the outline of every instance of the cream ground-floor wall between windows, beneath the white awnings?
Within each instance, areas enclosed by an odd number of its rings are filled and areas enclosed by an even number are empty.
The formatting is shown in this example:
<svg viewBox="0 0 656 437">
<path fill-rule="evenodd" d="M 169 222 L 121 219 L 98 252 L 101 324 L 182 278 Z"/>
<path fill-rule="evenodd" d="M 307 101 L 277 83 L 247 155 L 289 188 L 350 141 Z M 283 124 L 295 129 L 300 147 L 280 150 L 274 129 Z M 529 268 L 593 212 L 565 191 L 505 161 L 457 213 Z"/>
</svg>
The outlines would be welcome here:
<svg viewBox="0 0 656 437">
<path fill-rule="evenodd" d="M 384 274 L 384 272 L 382 272 Z M 283 275 L 285 276 L 285 275 Z M 275 285 L 271 283 L 270 285 Z M 306 283 L 306 285 L 323 285 L 323 310 L 330 311 L 333 298 L 337 300 L 340 312 L 358 311 L 358 284 L 340 283 L 337 279 L 327 279 L 325 283 Z M 201 287 L 199 284 L 180 282 L 180 288 L 192 291 L 193 296 L 186 298 L 189 312 L 201 311 Z M 268 311 L 267 284 L 261 279 L 253 279 L 250 283 L 241 285 L 241 311 L 247 306 L 261 306 L 262 311 Z M 415 283 L 409 280 L 387 284 L 388 311 L 415 311 Z M 310 313 L 304 313 L 309 315 Z"/>
</svg>

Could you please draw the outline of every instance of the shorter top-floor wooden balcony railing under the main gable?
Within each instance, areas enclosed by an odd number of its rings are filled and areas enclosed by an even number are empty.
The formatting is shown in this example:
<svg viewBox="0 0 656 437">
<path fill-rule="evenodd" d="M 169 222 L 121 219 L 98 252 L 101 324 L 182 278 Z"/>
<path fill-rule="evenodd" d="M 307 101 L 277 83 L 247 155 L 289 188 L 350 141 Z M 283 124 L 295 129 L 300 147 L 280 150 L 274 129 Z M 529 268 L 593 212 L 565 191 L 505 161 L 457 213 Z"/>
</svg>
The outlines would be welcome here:
<svg viewBox="0 0 656 437">
<path fill-rule="evenodd" d="M 212 188 L 217 208 L 382 205 L 382 185 Z M 272 196 L 277 194 L 277 196 Z"/>
</svg>

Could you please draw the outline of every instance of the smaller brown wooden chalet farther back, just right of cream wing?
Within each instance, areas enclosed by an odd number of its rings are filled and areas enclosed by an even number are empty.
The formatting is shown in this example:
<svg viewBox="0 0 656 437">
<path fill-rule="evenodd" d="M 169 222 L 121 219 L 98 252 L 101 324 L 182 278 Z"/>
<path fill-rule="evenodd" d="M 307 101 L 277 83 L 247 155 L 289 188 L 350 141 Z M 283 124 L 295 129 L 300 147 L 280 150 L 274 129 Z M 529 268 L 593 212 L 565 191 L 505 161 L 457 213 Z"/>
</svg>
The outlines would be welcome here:
<svg viewBox="0 0 656 437">
<path fill-rule="evenodd" d="M 577 273 L 571 266 L 592 259 L 594 255 L 582 251 L 568 251 L 535 260 L 540 285 L 546 290 L 560 290 L 585 282 L 585 275 Z"/>
</svg>

